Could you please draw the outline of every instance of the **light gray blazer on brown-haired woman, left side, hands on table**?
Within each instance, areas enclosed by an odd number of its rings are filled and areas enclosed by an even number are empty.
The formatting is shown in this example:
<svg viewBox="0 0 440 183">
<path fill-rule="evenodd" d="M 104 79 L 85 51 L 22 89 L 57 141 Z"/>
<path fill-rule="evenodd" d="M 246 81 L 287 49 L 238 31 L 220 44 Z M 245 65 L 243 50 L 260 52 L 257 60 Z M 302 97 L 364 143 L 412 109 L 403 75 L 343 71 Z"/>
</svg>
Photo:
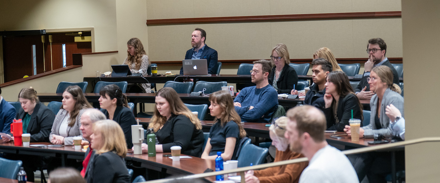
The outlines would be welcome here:
<svg viewBox="0 0 440 183">
<path fill-rule="evenodd" d="M 74 136 L 81 136 L 83 140 L 86 140 L 82 136 L 82 132 L 80 130 L 80 118 L 84 110 L 85 109 L 81 109 L 80 113 L 77 115 L 77 120 L 72 127 L 67 126 L 67 136 L 64 138 L 64 145 L 73 145 Z M 64 118 L 67 117 L 67 113 L 68 112 L 64 109 L 60 109 L 58 111 L 58 114 L 55 116 L 54 124 L 52 125 L 51 134 L 49 134 L 49 140 L 52 140 L 52 135 L 59 135 L 59 126 L 61 126 L 61 122 L 64 120 Z"/>
</svg>

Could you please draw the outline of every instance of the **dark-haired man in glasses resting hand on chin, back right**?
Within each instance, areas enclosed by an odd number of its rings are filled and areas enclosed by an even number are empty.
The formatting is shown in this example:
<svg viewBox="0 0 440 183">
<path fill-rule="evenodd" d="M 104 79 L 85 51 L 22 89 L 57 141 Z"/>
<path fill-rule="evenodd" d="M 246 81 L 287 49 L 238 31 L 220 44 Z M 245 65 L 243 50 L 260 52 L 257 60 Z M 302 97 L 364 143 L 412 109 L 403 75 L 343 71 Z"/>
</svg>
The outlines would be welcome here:
<svg viewBox="0 0 440 183">
<path fill-rule="evenodd" d="M 368 84 L 368 77 L 370 77 L 370 72 L 373 67 L 386 65 L 391 68 L 393 75 L 392 83 L 399 84 L 399 75 L 397 74 L 396 68 L 394 68 L 388 58 L 385 57 L 386 43 L 383 39 L 374 38 L 368 40 L 367 53 L 368 61 L 365 62 L 364 65 L 365 72 L 363 73 L 359 85 L 354 89 L 359 99 L 370 99 L 374 95 L 374 91 L 370 91 L 370 85 Z"/>
</svg>

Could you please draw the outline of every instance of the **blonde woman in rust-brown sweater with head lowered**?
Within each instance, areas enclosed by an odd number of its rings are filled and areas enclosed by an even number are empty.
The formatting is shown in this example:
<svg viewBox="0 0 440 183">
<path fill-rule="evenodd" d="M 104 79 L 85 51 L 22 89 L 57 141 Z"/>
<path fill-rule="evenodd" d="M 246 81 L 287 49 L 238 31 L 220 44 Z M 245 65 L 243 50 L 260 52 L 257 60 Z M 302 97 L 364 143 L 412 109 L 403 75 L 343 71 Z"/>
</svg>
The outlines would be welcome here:
<svg viewBox="0 0 440 183">
<path fill-rule="evenodd" d="M 276 147 L 274 162 L 304 157 L 301 153 L 289 149 L 289 141 L 284 136 L 288 121 L 289 118 L 282 116 L 269 127 L 272 145 Z M 307 165 L 308 162 L 301 162 L 263 170 L 249 170 L 245 175 L 246 183 L 297 183 Z"/>
</svg>

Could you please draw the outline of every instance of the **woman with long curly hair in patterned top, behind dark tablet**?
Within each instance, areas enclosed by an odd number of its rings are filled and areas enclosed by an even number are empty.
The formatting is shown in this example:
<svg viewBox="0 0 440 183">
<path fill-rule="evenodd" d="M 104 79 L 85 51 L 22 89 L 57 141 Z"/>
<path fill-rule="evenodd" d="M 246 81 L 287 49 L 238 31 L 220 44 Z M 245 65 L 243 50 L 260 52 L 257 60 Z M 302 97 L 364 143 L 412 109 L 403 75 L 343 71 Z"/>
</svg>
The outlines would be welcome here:
<svg viewBox="0 0 440 183">
<path fill-rule="evenodd" d="M 150 62 L 148 61 L 148 55 L 143 49 L 142 42 L 134 37 L 127 42 L 127 57 L 123 65 L 128 65 L 132 73 L 147 73 Z M 139 70 L 141 70 L 139 72 Z M 129 93 L 151 93 L 150 83 L 135 83 L 129 84 L 127 91 Z"/>
</svg>

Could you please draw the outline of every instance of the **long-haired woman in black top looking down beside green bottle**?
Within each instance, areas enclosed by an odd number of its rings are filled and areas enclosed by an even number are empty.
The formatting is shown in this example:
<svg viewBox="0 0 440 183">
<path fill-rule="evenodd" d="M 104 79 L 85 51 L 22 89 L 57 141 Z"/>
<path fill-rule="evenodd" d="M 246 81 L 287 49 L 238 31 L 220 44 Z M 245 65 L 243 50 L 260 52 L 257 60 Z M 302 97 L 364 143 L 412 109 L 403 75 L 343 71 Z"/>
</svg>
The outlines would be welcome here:
<svg viewBox="0 0 440 183">
<path fill-rule="evenodd" d="M 182 147 L 181 153 L 200 157 L 203 146 L 202 124 L 170 87 L 156 94 L 156 108 L 148 128 L 153 128 L 158 142 L 156 152 L 171 152 L 171 146 Z M 146 140 L 142 152 L 147 153 Z"/>
</svg>

